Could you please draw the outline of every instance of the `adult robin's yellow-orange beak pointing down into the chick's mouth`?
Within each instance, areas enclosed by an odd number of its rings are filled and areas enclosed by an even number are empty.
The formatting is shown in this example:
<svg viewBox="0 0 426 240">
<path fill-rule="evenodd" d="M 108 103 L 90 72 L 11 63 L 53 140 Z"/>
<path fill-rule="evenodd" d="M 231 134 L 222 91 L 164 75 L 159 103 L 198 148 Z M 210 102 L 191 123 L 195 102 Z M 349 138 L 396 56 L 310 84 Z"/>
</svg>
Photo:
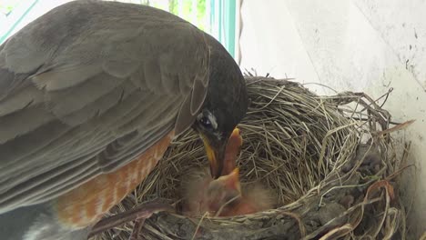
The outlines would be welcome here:
<svg viewBox="0 0 426 240">
<path fill-rule="evenodd" d="M 203 139 L 204 147 L 208 155 L 208 161 L 210 162 L 210 173 L 214 179 L 217 179 L 222 173 L 224 161 L 225 161 L 225 150 L 227 142 L 219 143 L 218 145 L 211 145 L 208 139 L 204 136 Z"/>
</svg>

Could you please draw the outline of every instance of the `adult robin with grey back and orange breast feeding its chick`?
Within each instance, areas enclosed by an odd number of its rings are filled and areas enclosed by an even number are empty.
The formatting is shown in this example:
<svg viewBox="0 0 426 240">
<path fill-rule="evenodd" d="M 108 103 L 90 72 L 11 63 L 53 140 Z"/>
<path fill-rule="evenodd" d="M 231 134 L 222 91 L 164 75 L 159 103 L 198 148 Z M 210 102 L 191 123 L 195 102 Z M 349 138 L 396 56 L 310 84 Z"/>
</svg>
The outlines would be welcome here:
<svg viewBox="0 0 426 240">
<path fill-rule="evenodd" d="M 177 16 L 56 7 L 0 45 L 0 239 L 85 239 L 191 126 L 218 177 L 247 107 L 226 49 Z"/>
</svg>

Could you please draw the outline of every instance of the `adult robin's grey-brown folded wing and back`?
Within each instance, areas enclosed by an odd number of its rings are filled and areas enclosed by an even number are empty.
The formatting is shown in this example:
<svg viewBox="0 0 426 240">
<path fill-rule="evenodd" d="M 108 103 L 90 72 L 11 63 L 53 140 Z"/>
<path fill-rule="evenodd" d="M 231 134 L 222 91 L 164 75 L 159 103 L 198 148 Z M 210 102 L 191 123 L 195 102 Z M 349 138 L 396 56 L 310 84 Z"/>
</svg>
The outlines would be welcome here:
<svg viewBox="0 0 426 240">
<path fill-rule="evenodd" d="M 0 213 L 53 199 L 187 129 L 204 34 L 147 6 L 76 1 L 0 46 Z"/>
</svg>

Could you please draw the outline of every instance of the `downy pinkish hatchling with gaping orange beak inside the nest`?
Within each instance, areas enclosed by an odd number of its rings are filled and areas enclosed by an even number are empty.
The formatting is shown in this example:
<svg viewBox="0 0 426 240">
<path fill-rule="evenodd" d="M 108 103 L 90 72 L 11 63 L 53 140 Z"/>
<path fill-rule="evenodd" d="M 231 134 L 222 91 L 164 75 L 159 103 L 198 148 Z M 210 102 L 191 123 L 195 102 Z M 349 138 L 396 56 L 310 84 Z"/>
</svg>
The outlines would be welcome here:
<svg viewBox="0 0 426 240">
<path fill-rule="evenodd" d="M 185 215 L 248 215 L 274 207 L 273 195 L 261 185 L 249 185 L 241 190 L 236 167 L 241 145 L 242 137 L 236 129 L 228 140 L 221 176 L 213 180 L 208 171 L 204 171 L 189 181 L 183 205 Z"/>
</svg>

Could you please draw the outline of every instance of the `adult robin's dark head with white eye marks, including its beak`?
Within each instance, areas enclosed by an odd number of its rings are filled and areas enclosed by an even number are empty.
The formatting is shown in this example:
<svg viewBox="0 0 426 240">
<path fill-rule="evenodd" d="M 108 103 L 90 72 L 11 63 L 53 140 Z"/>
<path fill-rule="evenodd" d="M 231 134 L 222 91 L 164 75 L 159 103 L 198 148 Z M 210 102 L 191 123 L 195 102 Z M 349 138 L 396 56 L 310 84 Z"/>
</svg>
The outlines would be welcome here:
<svg viewBox="0 0 426 240">
<path fill-rule="evenodd" d="M 208 93 L 194 128 L 206 147 L 211 175 L 218 178 L 228 138 L 246 115 L 249 99 L 237 63 L 216 39 L 210 35 L 207 39 L 210 45 Z"/>
</svg>

